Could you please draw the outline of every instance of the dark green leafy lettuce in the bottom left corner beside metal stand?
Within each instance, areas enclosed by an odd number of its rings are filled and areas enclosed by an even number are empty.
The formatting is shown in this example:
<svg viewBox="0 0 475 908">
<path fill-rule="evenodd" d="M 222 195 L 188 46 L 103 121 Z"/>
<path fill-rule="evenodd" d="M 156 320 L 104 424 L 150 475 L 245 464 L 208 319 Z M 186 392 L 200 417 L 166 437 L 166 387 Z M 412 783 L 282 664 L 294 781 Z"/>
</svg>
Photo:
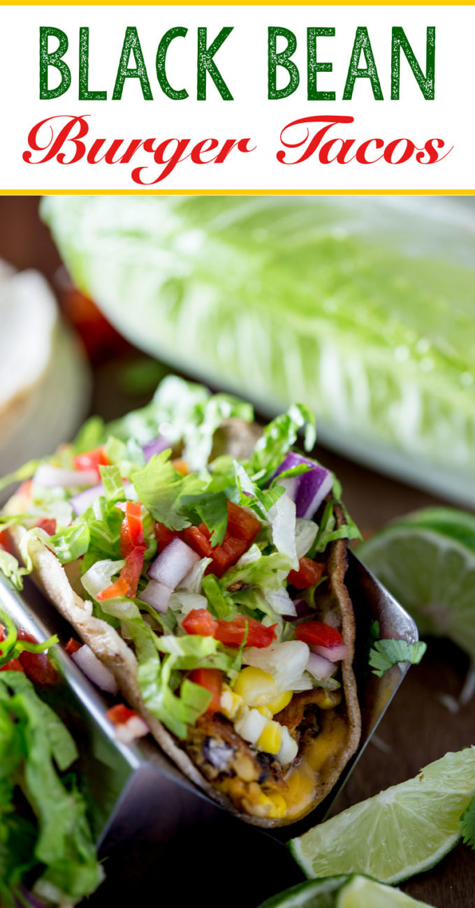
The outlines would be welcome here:
<svg viewBox="0 0 475 908">
<path fill-rule="evenodd" d="M 16 640 L 10 619 L 10 657 L 19 647 L 41 652 L 51 646 Z M 2 648 L 5 651 L 6 641 Z M 35 647 L 35 648 L 34 648 Z M 28 874 L 35 893 L 54 903 L 79 902 L 94 892 L 104 873 L 94 849 L 84 795 L 71 774 L 77 758 L 72 736 L 37 696 L 22 672 L 0 674 L 0 901 L 24 903 L 18 887 Z M 21 789 L 21 797 L 18 797 Z M 21 805 L 21 806 L 20 806 Z M 56 897 L 55 897 L 56 896 Z M 18 902 L 15 901 L 18 899 Z"/>
</svg>

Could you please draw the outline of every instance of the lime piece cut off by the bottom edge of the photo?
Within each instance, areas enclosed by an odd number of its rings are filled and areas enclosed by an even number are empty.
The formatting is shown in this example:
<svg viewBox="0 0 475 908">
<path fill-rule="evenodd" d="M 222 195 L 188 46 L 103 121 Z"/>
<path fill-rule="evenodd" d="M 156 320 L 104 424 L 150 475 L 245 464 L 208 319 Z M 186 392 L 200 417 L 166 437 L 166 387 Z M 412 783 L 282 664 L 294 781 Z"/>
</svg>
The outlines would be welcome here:
<svg viewBox="0 0 475 908">
<path fill-rule="evenodd" d="M 312 880 L 273 895 L 261 908 L 428 908 L 399 889 L 376 883 L 366 876 L 343 874 Z M 429 906 L 430 908 L 430 906 Z"/>
</svg>

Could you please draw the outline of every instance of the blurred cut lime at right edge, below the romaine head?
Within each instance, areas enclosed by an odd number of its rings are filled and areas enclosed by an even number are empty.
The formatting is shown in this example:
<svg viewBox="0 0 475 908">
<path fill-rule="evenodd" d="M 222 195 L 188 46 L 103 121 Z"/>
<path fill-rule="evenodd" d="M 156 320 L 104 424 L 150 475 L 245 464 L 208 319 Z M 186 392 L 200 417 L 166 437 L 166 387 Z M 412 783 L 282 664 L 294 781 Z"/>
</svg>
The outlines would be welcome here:
<svg viewBox="0 0 475 908">
<path fill-rule="evenodd" d="M 475 517 L 429 508 L 381 529 L 356 549 L 415 619 L 475 658 Z"/>
</svg>

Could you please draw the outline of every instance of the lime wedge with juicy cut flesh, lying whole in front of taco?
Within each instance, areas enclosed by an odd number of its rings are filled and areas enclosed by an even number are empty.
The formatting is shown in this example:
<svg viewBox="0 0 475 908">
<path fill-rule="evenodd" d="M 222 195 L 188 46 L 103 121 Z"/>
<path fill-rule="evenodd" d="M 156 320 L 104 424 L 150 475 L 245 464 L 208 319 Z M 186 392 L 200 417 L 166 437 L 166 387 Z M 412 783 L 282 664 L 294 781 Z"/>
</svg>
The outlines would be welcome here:
<svg viewBox="0 0 475 908">
<path fill-rule="evenodd" d="M 475 747 L 467 747 L 292 839 L 292 854 L 309 877 L 365 873 L 399 883 L 457 844 L 474 794 Z"/>
</svg>

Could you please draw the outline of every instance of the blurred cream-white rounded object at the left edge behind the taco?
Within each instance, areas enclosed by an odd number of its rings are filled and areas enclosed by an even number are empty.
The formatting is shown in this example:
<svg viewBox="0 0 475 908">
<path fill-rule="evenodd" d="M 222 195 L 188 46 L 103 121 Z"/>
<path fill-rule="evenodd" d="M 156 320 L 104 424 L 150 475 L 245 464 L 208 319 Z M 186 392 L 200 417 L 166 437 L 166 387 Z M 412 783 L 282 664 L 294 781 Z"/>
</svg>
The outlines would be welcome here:
<svg viewBox="0 0 475 908">
<path fill-rule="evenodd" d="M 74 436 L 88 409 L 91 376 L 38 271 L 15 272 L 0 262 L 0 326 L 3 476 Z"/>
</svg>

